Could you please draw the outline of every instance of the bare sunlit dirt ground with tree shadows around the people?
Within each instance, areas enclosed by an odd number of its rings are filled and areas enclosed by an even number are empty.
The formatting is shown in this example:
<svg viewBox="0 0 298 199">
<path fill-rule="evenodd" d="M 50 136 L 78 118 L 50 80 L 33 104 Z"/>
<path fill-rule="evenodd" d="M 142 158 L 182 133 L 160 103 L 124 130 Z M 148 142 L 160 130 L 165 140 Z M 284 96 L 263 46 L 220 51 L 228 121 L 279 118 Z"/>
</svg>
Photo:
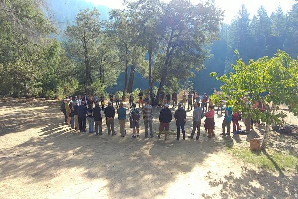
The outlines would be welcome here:
<svg viewBox="0 0 298 199">
<path fill-rule="evenodd" d="M 283 174 L 246 165 L 227 153 L 226 145 L 248 147 L 262 138 L 262 129 L 249 135 L 222 138 L 224 119 L 216 115 L 216 137 L 176 141 L 176 125 L 166 142 L 127 136 L 78 133 L 64 125 L 60 101 L 0 99 L 1 199 L 220 199 L 298 198 L 297 174 Z M 160 108 L 154 108 L 154 131 Z M 174 109 L 172 109 L 174 111 Z M 191 133 L 192 111 L 186 133 Z M 298 124 L 289 115 L 287 122 Z M 241 123 L 242 126 L 243 123 Z M 279 137 L 276 133 L 273 136 Z M 297 150 L 297 143 L 284 147 Z M 295 149 L 296 148 L 296 149 Z"/>
</svg>

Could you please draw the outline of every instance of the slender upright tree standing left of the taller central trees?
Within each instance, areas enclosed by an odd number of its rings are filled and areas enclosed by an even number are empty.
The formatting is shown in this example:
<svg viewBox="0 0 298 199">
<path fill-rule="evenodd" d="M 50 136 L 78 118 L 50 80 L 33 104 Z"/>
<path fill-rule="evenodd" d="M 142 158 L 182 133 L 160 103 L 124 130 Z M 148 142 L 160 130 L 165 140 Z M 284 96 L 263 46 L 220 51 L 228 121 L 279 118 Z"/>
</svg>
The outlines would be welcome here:
<svg viewBox="0 0 298 199">
<path fill-rule="evenodd" d="M 99 15 L 100 13 L 96 8 L 80 11 L 75 17 L 75 24 L 68 26 L 65 31 L 65 35 L 69 39 L 67 44 L 69 49 L 73 51 L 72 55 L 83 60 L 85 64 L 85 92 L 87 92 L 89 82 L 93 83 L 90 65 L 91 53 L 89 51 L 101 33 Z"/>
</svg>

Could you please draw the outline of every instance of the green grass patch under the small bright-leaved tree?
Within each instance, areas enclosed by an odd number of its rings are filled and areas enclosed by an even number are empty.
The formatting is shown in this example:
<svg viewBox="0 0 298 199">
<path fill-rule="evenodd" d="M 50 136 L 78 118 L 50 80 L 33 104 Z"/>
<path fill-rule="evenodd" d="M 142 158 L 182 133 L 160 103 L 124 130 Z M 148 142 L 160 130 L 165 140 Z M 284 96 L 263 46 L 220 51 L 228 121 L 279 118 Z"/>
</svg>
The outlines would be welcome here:
<svg viewBox="0 0 298 199">
<path fill-rule="evenodd" d="M 249 148 L 232 147 L 228 149 L 234 156 L 263 169 L 298 172 L 298 157 L 295 155 L 269 149 L 267 152 L 251 152 Z"/>
</svg>

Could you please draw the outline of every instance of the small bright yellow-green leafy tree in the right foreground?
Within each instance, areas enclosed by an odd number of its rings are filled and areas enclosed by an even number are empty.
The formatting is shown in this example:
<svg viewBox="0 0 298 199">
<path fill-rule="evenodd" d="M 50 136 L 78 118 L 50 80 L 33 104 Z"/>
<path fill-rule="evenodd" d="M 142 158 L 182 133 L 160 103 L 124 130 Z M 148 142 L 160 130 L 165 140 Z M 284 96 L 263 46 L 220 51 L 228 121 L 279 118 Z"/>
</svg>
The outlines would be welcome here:
<svg viewBox="0 0 298 199">
<path fill-rule="evenodd" d="M 236 51 L 236 53 L 238 53 Z M 237 60 L 233 73 L 218 76 L 224 84 L 221 89 L 229 97 L 228 104 L 240 110 L 244 117 L 261 119 L 265 122 L 262 149 L 266 150 L 270 124 L 282 124 L 286 114 L 279 105 L 289 106 L 289 111 L 298 116 L 298 59 L 292 59 L 286 52 L 278 50 L 272 58 L 267 56 L 249 64 Z M 211 73 L 215 76 L 216 73 Z M 246 106 L 243 97 L 252 103 L 261 101 L 266 104 L 265 112 Z"/>
</svg>

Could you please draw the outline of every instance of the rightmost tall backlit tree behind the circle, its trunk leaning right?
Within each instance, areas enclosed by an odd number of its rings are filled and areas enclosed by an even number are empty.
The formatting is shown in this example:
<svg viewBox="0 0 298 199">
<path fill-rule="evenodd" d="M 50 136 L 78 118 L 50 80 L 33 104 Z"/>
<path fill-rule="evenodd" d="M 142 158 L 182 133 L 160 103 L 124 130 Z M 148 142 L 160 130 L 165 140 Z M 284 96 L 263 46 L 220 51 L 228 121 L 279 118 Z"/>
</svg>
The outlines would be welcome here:
<svg viewBox="0 0 298 199">
<path fill-rule="evenodd" d="M 187 0 L 172 0 L 164 7 L 160 24 L 162 53 L 159 57 L 163 64 L 160 66 L 155 101 L 158 101 L 168 76 L 172 78 L 181 71 L 203 68 L 206 59 L 204 46 L 217 38 L 221 18 L 222 12 L 214 6 L 213 1 L 192 5 Z"/>
</svg>

